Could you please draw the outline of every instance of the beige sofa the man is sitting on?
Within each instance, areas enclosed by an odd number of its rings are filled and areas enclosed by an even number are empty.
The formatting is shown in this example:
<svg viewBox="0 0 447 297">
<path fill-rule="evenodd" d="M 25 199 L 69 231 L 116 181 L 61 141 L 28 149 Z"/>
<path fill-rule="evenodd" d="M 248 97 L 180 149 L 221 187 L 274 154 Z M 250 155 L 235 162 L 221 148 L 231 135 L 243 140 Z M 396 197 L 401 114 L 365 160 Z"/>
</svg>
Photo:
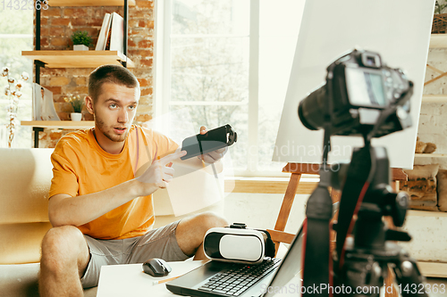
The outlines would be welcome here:
<svg viewBox="0 0 447 297">
<path fill-rule="evenodd" d="M 52 149 L 0 148 L 0 295 L 38 296 Z M 84 292 L 96 296 L 97 288 Z"/>
</svg>

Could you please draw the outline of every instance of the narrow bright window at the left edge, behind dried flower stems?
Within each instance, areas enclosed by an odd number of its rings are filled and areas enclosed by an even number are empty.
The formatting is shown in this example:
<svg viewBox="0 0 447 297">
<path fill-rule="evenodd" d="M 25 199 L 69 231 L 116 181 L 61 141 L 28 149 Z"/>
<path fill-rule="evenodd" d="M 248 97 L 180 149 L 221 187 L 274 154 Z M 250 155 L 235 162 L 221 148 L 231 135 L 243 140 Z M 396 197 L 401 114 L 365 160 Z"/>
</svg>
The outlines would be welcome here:
<svg viewBox="0 0 447 297">
<path fill-rule="evenodd" d="M 5 2 L 6 3 L 6 2 Z M 6 3 L 7 4 L 7 3 Z M 18 120 L 30 120 L 32 111 L 31 89 L 32 89 L 32 62 L 21 56 L 21 51 L 30 51 L 33 48 L 33 10 L 17 10 L 5 5 L 0 8 L 0 70 L 8 67 L 15 79 L 21 77 L 23 71 L 30 74 L 30 79 L 25 82 L 21 89 L 23 93 L 18 111 Z M 7 147 L 8 132 L 6 124 L 9 118 L 6 106 L 9 99 L 4 95 L 4 87 L 7 80 L 0 77 L 0 147 Z M 31 128 L 16 126 L 13 138 L 13 147 L 31 146 Z"/>
</svg>

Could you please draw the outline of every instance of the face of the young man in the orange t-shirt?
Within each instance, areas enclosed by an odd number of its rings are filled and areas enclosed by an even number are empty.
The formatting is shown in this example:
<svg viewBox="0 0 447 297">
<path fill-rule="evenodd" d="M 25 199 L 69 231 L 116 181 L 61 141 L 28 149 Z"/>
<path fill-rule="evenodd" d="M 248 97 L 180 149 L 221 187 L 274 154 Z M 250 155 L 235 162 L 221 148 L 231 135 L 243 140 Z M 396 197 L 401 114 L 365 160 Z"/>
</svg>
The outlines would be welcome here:
<svg viewBox="0 0 447 297">
<path fill-rule="evenodd" d="M 138 102 L 138 87 L 103 84 L 93 106 L 96 134 L 100 133 L 112 142 L 123 142 L 135 118 Z"/>
</svg>

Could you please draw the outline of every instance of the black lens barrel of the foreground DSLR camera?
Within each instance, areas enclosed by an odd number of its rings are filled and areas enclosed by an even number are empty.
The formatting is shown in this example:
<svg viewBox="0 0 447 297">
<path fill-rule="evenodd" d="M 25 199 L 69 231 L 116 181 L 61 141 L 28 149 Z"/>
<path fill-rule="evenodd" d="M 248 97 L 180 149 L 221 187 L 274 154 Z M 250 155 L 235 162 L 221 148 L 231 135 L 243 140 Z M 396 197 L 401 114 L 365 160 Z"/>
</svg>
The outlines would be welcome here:
<svg viewBox="0 0 447 297">
<path fill-rule="evenodd" d="M 325 124 L 326 87 L 320 87 L 301 100 L 298 106 L 299 120 L 309 130 L 318 130 Z"/>
</svg>

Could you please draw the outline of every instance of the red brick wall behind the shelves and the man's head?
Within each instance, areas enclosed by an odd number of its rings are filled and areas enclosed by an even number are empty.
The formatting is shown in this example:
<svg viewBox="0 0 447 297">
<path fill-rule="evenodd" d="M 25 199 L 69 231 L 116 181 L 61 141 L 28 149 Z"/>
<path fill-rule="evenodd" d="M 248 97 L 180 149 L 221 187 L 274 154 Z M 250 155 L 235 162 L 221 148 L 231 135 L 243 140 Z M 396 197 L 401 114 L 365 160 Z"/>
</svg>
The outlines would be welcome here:
<svg viewBox="0 0 447 297">
<path fill-rule="evenodd" d="M 88 31 L 93 37 L 89 50 L 95 50 L 97 35 L 101 29 L 105 12 L 117 12 L 123 16 L 122 7 L 50 7 L 41 11 L 40 49 L 72 50 L 72 33 Z M 130 69 L 139 79 L 141 97 L 135 123 L 152 119 L 153 111 L 153 51 L 154 51 L 154 1 L 136 0 L 129 7 L 128 53 L 135 63 Z M 85 96 L 88 93 L 89 73 L 94 69 L 41 69 L 40 85 L 53 92 L 55 110 L 61 120 L 70 120 L 72 106 L 63 101 L 67 94 Z M 85 120 L 93 120 L 88 111 L 82 112 Z M 69 130 L 45 129 L 39 134 L 39 147 L 55 147 L 63 134 Z"/>
</svg>

